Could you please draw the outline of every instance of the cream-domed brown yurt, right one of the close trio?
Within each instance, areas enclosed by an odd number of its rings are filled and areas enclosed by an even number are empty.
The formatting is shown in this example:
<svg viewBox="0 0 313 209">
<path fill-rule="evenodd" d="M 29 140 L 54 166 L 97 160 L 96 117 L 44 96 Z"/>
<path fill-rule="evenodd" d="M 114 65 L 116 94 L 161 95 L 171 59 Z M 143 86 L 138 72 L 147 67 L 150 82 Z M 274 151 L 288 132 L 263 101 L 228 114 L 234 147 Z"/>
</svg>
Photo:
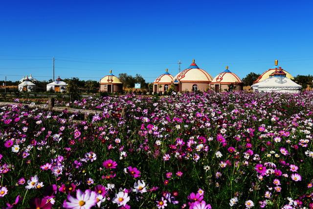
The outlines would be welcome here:
<svg viewBox="0 0 313 209">
<path fill-rule="evenodd" d="M 244 83 L 226 66 L 226 70 L 213 78 L 210 86 L 215 92 L 237 92 L 243 90 Z"/>
</svg>

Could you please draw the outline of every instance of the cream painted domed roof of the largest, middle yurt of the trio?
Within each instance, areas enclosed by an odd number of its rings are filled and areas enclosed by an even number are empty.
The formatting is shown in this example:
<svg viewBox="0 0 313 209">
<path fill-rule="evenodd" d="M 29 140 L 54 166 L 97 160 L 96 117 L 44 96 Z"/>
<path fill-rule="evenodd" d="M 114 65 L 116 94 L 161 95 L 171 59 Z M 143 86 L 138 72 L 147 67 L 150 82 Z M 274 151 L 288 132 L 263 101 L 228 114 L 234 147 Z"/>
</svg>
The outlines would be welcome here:
<svg viewBox="0 0 313 209">
<path fill-rule="evenodd" d="M 210 83 L 212 81 L 212 76 L 205 70 L 199 68 L 195 63 L 195 60 L 193 60 L 189 68 L 179 72 L 173 80 L 174 83 L 178 81 L 182 83 Z"/>
</svg>

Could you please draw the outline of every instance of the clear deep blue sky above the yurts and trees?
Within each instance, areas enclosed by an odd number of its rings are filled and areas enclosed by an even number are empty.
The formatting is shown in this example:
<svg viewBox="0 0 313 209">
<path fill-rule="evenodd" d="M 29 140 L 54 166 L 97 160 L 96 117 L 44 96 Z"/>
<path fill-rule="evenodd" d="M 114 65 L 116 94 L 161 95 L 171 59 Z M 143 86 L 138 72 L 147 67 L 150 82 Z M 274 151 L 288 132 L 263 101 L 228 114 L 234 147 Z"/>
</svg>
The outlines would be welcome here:
<svg viewBox="0 0 313 209">
<path fill-rule="evenodd" d="M 279 66 L 313 74 L 311 0 L 3 0 L 0 80 L 32 74 L 99 80 L 166 68 L 173 75 L 196 59 L 213 77 L 243 78 Z"/>
</svg>

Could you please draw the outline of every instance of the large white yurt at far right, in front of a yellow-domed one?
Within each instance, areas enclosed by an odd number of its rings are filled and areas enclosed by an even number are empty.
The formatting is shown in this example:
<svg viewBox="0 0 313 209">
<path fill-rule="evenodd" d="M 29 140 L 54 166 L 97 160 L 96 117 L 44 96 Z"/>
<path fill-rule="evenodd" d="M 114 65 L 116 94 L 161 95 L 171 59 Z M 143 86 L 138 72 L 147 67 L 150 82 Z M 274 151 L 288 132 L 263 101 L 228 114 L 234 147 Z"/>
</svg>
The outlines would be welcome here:
<svg viewBox="0 0 313 209">
<path fill-rule="evenodd" d="M 278 65 L 277 60 L 275 60 L 275 65 Z M 300 85 L 287 77 L 287 73 L 281 67 L 276 67 L 267 79 L 253 84 L 251 88 L 254 92 L 278 93 L 300 93 L 302 89 Z"/>
</svg>

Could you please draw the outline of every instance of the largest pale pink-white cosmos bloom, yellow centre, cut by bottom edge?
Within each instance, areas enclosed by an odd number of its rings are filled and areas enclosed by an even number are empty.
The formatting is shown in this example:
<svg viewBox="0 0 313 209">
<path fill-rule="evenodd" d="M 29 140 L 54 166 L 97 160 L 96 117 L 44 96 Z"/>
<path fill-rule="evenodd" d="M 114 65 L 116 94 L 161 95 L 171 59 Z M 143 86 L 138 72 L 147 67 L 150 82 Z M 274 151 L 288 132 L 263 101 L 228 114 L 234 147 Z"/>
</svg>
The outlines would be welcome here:
<svg viewBox="0 0 313 209">
<path fill-rule="evenodd" d="M 63 207 L 66 209 L 90 209 L 97 203 L 96 193 L 90 189 L 87 189 L 85 192 L 78 189 L 76 198 L 67 195 L 67 200 L 64 200 L 63 203 Z"/>
</svg>

